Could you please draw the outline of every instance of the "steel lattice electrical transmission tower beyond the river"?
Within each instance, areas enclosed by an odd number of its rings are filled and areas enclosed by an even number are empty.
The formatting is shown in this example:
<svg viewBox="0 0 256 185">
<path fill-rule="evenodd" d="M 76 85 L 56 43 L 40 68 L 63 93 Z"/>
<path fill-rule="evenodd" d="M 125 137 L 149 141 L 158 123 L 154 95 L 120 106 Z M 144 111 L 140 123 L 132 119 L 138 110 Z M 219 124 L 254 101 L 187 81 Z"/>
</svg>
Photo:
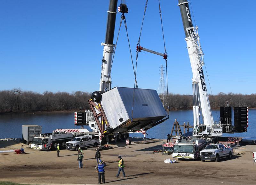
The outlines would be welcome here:
<svg viewBox="0 0 256 185">
<path fill-rule="evenodd" d="M 159 81 L 159 87 L 158 87 L 158 95 L 160 97 L 160 100 L 164 106 L 164 108 L 167 108 L 168 102 L 167 102 L 167 92 L 165 88 L 165 81 L 164 81 L 164 66 L 160 66 L 160 81 Z"/>
</svg>

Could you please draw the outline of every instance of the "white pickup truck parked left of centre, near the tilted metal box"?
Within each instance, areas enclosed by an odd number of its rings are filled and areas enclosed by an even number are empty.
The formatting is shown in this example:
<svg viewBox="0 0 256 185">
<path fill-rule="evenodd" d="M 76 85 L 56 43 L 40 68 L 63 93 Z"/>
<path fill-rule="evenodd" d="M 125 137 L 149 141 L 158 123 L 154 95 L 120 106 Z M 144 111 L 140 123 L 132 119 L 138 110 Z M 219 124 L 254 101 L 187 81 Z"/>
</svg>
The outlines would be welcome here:
<svg viewBox="0 0 256 185">
<path fill-rule="evenodd" d="M 79 136 L 75 137 L 71 141 L 66 143 L 66 149 L 67 150 L 78 150 L 79 147 L 89 147 L 94 146 L 97 147 L 97 145 L 100 144 L 99 139 L 92 139 L 88 136 Z"/>
</svg>

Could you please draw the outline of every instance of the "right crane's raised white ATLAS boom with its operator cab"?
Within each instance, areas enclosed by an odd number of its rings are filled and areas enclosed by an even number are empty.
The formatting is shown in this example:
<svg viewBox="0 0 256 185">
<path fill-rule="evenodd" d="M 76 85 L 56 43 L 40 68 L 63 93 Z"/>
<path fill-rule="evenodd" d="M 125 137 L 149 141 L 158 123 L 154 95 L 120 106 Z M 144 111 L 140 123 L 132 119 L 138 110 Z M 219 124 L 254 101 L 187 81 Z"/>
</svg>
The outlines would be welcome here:
<svg viewBox="0 0 256 185">
<path fill-rule="evenodd" d="M 193 135 L 203 136 L 221 136 L 222 128 L 214 124 L 212 110 L 207 94 L 206 83 L 204 79 L 204 58 L 203 51 L 199 41 L 197 26 L 193 27 L 188 1 L 179 0 L 180 13 L 185 31 L 185 41 L 187 42 L 188 55 L 192 68 L 193 78 L 193 116 L 194 130 Z M 201 114 L 200 111 L 201 110 Z M 203 125 L 200 125 L 200 116 L 202 115 Z"/>
</svg>

